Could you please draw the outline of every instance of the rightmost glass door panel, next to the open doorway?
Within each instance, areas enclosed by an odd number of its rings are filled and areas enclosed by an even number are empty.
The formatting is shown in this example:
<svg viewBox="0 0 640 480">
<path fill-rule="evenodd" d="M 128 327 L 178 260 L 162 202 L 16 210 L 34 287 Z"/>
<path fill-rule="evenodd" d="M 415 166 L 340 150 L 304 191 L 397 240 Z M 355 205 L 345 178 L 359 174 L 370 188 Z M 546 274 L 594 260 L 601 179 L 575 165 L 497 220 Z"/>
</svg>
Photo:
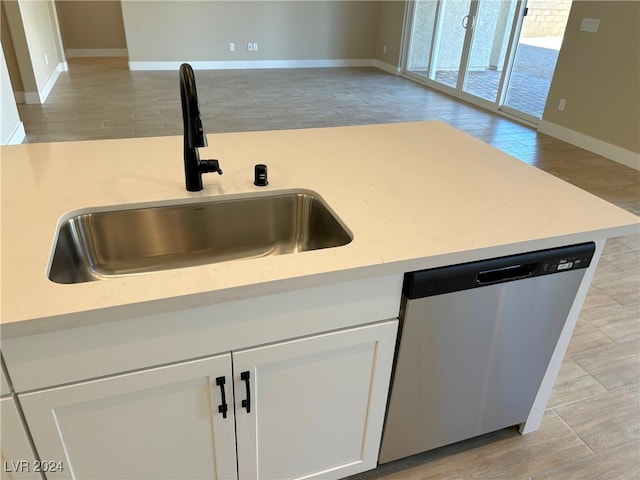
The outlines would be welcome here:
<svg viewBox="0 0 640 480">
<path fill-rule="evenodd" d="M 495 103 L 507 63 L 518 2 L 491 0 L 474 3 L 477 3 L 477 9 L 462 91 Z"/>
</svg>

